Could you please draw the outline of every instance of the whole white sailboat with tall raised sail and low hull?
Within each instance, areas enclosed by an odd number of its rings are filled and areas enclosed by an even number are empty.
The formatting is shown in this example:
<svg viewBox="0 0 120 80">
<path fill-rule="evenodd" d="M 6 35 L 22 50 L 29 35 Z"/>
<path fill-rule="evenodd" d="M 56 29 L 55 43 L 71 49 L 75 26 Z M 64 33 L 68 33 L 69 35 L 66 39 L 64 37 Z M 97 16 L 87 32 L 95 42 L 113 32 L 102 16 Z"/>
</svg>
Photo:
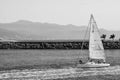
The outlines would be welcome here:
<svg viewBox="0 0 120 80">
<path fill-rule="evenodd" d="M 77 67 L 83 68 L 97 68 L 108 67 L 109 63 L 106 63 L 103 44 L 100 38 L 100 33 L 94 20 L 93 15 L 90 17 L 89 25 L 89 57 L 88 61 L 84 64 L 78 64 Z"/>
</svg>

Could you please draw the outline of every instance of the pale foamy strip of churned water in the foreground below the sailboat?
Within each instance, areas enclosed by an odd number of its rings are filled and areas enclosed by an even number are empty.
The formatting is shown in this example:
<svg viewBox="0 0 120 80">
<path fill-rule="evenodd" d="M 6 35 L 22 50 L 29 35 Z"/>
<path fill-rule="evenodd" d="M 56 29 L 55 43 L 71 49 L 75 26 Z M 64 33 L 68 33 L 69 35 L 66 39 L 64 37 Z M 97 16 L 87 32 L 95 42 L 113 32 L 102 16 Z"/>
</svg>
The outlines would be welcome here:
<svg viewBox="0 0 120 80">
<path fill-rule="evenodd" d="M 48 70 L 11 70 L 1 71 L 0 79 L 58 79 L 71 77 L 84 77 L 95 75 L 120 75 L 120 66 L 111 66 L 105 68 L 64 68 Z"/>
</svg>

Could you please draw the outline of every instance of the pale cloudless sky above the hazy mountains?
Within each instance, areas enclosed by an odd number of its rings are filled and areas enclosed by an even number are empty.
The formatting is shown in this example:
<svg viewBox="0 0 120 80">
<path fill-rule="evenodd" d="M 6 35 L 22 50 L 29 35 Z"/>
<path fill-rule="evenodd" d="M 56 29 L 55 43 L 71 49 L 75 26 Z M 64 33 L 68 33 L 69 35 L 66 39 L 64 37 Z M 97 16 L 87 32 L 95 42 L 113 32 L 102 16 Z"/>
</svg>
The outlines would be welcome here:
<svg viewBox="0 0 120 80">
<path fill-rule="evenodd" d="M 99 28 L 120 30 L 120 0 L 0 0 L 0 23 L 29 20 L 87 25 L 93 14 Z"/>
</svg>

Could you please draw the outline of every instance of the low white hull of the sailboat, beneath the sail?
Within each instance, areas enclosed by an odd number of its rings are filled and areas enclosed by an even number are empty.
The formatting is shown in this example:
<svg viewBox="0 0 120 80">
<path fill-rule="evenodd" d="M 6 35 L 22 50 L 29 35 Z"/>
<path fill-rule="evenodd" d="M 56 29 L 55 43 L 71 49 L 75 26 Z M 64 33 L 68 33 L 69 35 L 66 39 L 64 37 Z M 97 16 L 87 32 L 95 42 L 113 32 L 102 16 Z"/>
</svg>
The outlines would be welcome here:
<svg viewBox="0 0 120 80">
<path fill-rule="evenodd" d="M 99 68 L 99 67 L 108 67 L 110 64 L 108 63 L 94 63 L 94 62 L 87 62 L 85 64 L 78 64 L 77 67 L 80 68 Z"/>
</svg>

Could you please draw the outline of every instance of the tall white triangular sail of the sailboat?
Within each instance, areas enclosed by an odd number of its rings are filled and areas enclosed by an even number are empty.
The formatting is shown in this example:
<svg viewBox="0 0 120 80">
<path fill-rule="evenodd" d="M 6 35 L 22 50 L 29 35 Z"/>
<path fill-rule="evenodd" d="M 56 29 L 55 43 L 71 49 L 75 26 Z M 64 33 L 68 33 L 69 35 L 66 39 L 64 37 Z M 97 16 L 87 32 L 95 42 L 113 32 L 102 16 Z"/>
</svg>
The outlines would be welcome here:
<svg viewBox="0 0 120 80">
<path fill-rule="evenodd" d="M 99 30 L 92 15 L 90 18 L 89 26 L 90 26 L 89 57 L 91 59 L 105 60 L 104 48 L 99 35 Z"/>
</svg>

